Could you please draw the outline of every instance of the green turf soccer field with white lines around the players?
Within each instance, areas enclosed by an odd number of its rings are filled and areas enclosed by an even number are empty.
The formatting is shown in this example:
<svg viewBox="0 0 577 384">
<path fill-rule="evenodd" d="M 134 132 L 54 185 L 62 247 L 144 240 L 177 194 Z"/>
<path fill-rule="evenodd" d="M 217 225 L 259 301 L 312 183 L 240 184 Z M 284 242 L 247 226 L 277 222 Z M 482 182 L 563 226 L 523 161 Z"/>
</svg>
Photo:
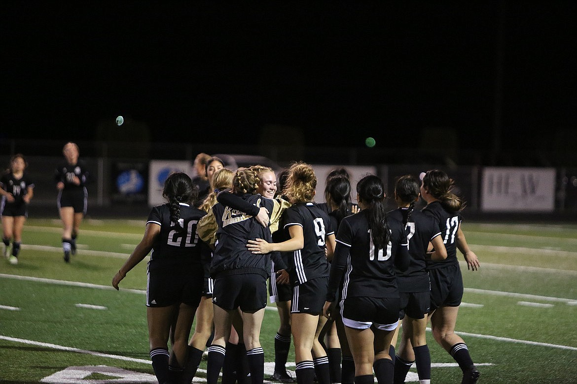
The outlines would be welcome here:
<svg viewBox="0 0 577 384">
<path fill-rule="evenodd" d="M 59 220 L 27 221 L 20 262 L 0 262 L 0 382 L 156 382 L 146 263 L 122 280 L 120 291 L 110 285 L 144 222 L 85 220 L 78 252 L 66 264 Z M 479 383 L 577 382 L 577 225 L 465 222 L 463 231 L 481 270 L 461 264 L 466 288 L 456 331 L 481 371 Z M 267 309 L 265 378 L 279 325 L 274 305 Z M 430 332 L 428 343 L 432 382 L 460 383 L 459 367 Z M 292 348 L 288 360 L 294 362 Z M 195 382 L 205 381 L 205 362 L 200 368 Z M 414 366 L 407 382 L 418 382 Z"/>
</svg>

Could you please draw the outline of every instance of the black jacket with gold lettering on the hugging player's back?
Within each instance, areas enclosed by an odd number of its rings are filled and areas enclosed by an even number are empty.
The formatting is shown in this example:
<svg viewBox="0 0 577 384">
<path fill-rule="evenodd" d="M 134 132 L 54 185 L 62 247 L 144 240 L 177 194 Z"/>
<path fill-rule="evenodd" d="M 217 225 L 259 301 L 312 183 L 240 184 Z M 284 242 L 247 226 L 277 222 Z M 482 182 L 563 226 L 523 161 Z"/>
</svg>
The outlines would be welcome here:
<svg viewBox="0 0 577 384">
<path fill-rule="evenodd" d="M 256 207 L 273 211 L 274 203 L 271 199 L 261 195 L 244 195 L 242 198 Z M 253 254 L 246 248 L 248 241 L 256 238 L 272 242 L 268 227 L 260 225 L 254 216 L 221 203 L 215 204 L 212 211 L 218 224 L 218 240 L 212 254 L 211 277 L 216 279 L 219 275 L 238 273 L 259 273 L 268 277 L 271 272 L 271 256 Z"/>
</svg>

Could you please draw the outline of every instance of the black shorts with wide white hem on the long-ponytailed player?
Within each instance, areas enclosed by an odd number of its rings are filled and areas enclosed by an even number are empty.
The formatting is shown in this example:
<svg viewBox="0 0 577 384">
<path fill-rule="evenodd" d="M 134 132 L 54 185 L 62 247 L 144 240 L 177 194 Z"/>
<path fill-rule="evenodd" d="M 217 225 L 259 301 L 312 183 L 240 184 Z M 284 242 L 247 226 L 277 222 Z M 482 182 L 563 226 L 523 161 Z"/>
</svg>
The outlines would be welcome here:
<svg viewBox="0 0 577 384">
<path fill-rule="evenodd" d="M 349 328 L 394 330 L 399 321 L 400 299 L 350 297 L 341 303 L 340 315 Z"/>
</svg>

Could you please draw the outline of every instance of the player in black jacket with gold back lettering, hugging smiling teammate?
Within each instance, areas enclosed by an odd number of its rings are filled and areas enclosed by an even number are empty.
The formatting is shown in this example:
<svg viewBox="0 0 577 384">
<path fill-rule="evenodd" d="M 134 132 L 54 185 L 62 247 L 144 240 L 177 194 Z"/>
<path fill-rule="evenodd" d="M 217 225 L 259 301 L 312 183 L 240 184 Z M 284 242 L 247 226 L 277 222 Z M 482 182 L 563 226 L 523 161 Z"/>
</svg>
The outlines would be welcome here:
<svg viewBox="0 0 577 384">
<path fill-rule="evenodd" d="M 239 168 L 233 178 L 233 193 L 259 210 L 273 211 L 273 200 L 253 194 L 258 187 L 254 170 Z M 264 381 L 264 351 L 260 345 L 260 328 L 267 305 L 267 279 L 271 271 L 268 254 L 255 256 L 246 249 L 249 239 L 271 239 L 268 226 L 262 226 L 255 216 L 235 210 L 222 203 L 212 207 L 218 223 L 216 248 L 211 261 L 211 277 L 215 284 L 212 303 L 215 336 L 208 348 L 207 382 L 216 384 L 230 339 L 233 316 L 242 312 L 242 339 L 250 370 L 250 381 Z"/>
</svg>

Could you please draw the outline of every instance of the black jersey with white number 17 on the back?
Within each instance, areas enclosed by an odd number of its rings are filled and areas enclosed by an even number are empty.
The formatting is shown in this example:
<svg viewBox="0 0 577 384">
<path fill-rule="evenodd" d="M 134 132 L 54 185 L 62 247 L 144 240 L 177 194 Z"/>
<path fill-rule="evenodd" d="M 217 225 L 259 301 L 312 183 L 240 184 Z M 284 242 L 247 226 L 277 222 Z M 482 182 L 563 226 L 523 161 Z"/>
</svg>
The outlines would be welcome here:
<svg viewBox="0 0 577 384">
<path fill-rule="evenodd" d="M 461 224 L 461 215 L 459 212 L 448 212 L 441 206 L 439 200 L 427 204 L 422 209 L 425 215 L 433 218 L 434 222 L 439 226 L 445 248 L 447 248 L 447 258 L 443 261 L 427 260 L 427 268 L 441 268 L 448 264 L 459 264 L 457 258 L 457 231 Z"/>
</svg>

